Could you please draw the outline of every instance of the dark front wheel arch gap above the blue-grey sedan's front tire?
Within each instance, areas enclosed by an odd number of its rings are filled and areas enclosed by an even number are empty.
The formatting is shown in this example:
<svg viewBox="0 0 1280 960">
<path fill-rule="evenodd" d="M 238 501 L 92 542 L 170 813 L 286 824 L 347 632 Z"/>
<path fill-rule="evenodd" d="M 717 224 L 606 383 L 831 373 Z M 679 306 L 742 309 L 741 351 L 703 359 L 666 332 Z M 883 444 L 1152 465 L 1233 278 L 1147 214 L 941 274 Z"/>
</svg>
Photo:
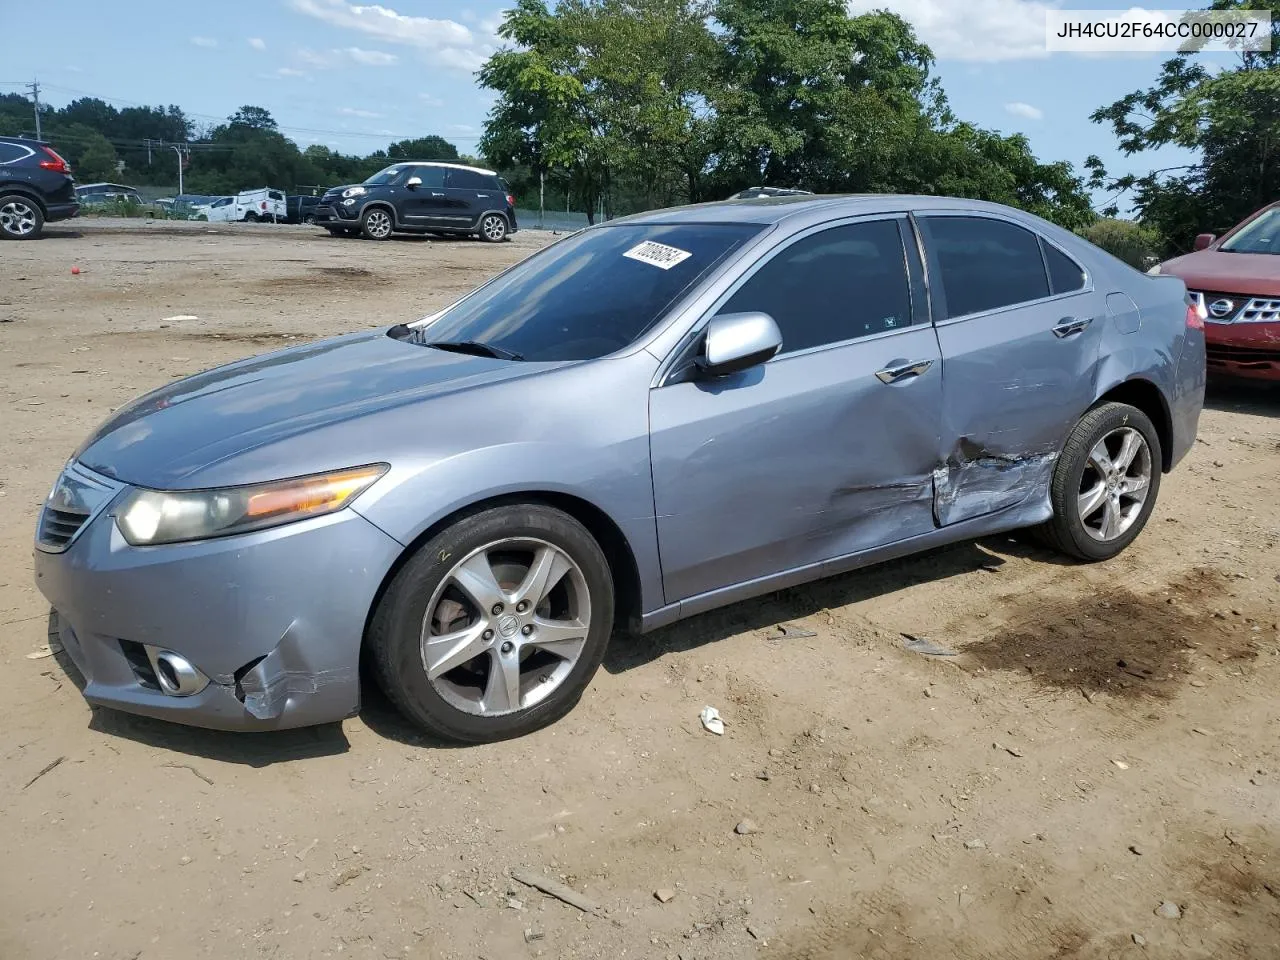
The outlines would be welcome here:
<svg viewBox="0 0 1280 960">
<path fill-rule="evenodd" d="M 588 532 L 590 532 L 591 536 L 595 538 L 595 541 L 600 545 L 600 549 L 604 552 L 604 558 L 609 563 L 609 577 L 613 580 L 614 626 L 626 628 L 630 623 L 639 621 L 641 612 L 640 567 L 636 563 L 635 552 L 632 550 L 626 534 L 622 532 L 614 520 L 590 500 L 585 500 L 573 494 L 554 490 L 522 490 L 517 493 L 504 493 L 500 495 L 486 497 L 484 499 L 475 500 L 474 503 L 468 503 L 467 506 L 460 507 L 452 513 L 440 517 L 426 527 L 426 530 L 415 536 L 413 540 L 404 547 L 403 550 L 401 550 L 396 562 L 392 563 L 387 573 L 383 576 L 378 590 L 374 593 L 372 603 L 370 603 L 369 612 L 365 614 L 365 630 L 361 637 L 361 650 L 364 650 L 364 646 L 367 643 L 369 625 L 372 622 L 374 612 L 378 609 L 378 604 L 381 603 L 383 596 L 385 595 L 392 581 L 396 579 L 396 575 L 399 573 L 401 568 L 415 553 L 417 553 L 422 544 L 428 543 L 433 536 L 463 517 L 480 513 L 481 511 L 493 509 L 494 507 L 504 507 L 517 503 L 532 503 L 553 507 L 568 513 L 577 522 L 585 526 Z"/>
</svg>

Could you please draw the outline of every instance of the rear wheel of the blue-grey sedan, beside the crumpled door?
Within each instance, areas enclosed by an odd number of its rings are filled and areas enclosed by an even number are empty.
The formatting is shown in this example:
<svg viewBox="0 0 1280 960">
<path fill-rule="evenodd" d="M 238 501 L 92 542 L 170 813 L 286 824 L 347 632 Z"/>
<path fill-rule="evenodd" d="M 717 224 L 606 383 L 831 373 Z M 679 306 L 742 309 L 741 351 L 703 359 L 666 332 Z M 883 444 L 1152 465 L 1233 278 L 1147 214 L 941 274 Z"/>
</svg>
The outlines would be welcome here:
<svg viewBox="0 0 1280 960">
<path fill-rule="evenodd" d="M 1037 527 L 1039 539 L 1082 561 L 1117 556 L 1151 517 L 1161 463 L 1160 434 L 1146 413 L 1128 403 L 1094 407 L 1080 417 L 1053 467 L 1053 516 Z"/>
</svg>

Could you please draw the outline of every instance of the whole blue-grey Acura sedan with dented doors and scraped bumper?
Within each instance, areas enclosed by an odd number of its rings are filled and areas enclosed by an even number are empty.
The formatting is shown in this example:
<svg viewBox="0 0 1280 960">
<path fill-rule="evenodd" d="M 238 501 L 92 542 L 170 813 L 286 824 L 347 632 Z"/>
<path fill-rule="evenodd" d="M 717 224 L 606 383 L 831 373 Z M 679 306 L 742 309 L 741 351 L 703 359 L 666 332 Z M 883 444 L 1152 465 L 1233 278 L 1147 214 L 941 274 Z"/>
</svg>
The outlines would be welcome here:
<svg viewBox="0 0 1280 960">
<path fill-rule="evenodd" d="M 616 625 L 1015 527 L 1115 557 L 1203 389 L 1180 280 L 1016 210 L 659 210 L 116 411 L 36 580 L 92 703 L 320 723 L 367 663 L 422 728 L 490 741 L 564 714 Z"/>
</svg>

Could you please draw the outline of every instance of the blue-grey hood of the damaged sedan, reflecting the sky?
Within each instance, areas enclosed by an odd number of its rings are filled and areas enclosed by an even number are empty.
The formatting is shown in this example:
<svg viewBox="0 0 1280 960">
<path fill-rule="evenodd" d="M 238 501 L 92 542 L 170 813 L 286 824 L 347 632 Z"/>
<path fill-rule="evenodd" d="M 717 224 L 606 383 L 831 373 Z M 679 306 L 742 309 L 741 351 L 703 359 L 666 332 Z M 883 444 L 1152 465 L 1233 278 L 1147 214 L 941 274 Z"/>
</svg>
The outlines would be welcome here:
<svg viewBox="0 0 1280 960">
<path fill-rule="evenodd" d="M 120 408 L 76 453 L 86 467 L 155 489 L 205 485 L 212 467 L 301 434 L 434 397 L 536 375 L 561 364 L 448 353 L 393 339 L 384 330 L 317 340 L 250 357 L 161 387 Z M 388 456 L 376 431 L 360 449 L 329 451 L 325 463 L 256 457 L 236 483 L 298 476 Z M 394 438 L 389 438 L 389 442 Z M 403 438 L 399 438 L 403 440 Z M 262 475 L 257 475 L 257 474 Z M 219 483 L 227 471 L 218 471 Z M 274 474 L 274 477 L 269 474 Z"/>
</svg>

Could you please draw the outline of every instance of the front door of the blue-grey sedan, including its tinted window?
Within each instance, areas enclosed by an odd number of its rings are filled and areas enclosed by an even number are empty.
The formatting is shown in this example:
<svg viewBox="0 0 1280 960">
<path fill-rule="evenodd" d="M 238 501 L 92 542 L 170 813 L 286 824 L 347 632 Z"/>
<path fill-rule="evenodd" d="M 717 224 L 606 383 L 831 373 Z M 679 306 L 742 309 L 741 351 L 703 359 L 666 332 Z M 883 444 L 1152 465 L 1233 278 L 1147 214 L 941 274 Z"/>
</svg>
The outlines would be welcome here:
<svg viewBox="0 0 1280 960">
<path fill-rule="evenodd" d="M 942 371 L 905 229 L 792 241 L 712 311 L 769 314 L 780 355 L 650 392 L 667 603 L 934 529 Z"/>
</svg>

